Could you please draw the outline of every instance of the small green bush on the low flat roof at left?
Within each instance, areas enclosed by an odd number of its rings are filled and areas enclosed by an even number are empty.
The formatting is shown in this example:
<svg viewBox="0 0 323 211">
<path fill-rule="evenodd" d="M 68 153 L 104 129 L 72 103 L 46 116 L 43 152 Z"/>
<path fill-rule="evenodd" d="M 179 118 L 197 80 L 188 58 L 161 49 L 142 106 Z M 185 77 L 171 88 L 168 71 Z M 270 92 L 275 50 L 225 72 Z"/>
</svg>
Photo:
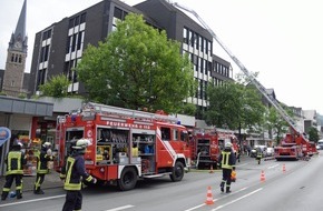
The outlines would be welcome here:
<svg viewBox="0 0 323 211">
<path fill-rule="evenodd" d="M 41 96 L 63 98 L 68 94 L 68 86 L 69 81 L 66 76 L 58 74 L 51 77 L 47 83 L 39 86 L 39 90 L 41 91 Z"/>
</svg>

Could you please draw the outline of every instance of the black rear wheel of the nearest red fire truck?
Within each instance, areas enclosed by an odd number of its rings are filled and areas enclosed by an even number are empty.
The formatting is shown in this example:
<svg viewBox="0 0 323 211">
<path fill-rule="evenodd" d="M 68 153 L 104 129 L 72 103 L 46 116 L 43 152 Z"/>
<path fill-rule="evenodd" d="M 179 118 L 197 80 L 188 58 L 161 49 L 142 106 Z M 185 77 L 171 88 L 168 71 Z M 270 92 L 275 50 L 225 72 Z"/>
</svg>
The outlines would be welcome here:
<svg viewBox="0 0 323 211">
<path fill-rule="evenodd" d="M 125 168 L 120 179 L 118 180 L 118 187 L 121 191 L 131 190 L 136 187 L 137 179 L 138 175 L 134 168 Z"/>
</svg>

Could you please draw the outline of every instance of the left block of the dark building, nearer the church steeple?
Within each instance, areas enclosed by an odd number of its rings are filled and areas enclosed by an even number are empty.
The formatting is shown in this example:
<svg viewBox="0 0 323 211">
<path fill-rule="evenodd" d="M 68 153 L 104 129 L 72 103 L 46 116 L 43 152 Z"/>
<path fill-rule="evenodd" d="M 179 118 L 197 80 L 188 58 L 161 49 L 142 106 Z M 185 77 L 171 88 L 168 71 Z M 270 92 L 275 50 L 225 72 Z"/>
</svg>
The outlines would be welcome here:
<svg viewBox="0 0 323 211">
<path fill-rule="evenodd" d="M 129 12 L 141 13 L 121 1 L 105 0 L 38 32 L 31 62 L 30 92 L 37 94 L 40 84 L 62 73 L 71 82 L 69 92 L 85 93 L 72 69 L 87 44 L 98 46 L 116 29 L 116 20 L 124 20 Z M 148 18 L 146 21 L 156 26 Z"/>
</svg>

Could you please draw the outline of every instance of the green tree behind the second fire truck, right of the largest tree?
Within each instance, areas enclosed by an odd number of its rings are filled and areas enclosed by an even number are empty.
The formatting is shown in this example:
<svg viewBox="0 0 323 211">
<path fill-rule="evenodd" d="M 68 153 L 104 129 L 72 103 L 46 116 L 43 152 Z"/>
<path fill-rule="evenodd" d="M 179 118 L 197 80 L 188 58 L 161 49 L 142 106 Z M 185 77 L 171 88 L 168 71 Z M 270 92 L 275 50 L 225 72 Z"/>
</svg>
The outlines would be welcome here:
<svg viewBox="0 0 323 211">
<path fill-rule="evenodd" d="M 207 96 L 209 107 L 205 120 L 208 124 L 236 130 L 263 122 L 265 108 L 262 96 L 253 86 L 237 82 L 208 86 Z"/>
</svg>

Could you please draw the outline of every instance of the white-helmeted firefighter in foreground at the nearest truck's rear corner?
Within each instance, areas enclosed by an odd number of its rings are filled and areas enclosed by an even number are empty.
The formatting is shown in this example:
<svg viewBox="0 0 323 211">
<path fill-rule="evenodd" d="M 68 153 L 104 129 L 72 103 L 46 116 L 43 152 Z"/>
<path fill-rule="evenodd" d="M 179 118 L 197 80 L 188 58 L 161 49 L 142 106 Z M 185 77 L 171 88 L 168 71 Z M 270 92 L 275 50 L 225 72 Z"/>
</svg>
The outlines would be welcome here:
<svg viewBox="0 0 323 211">
<path fill-rule="evenodd" d="M 72 148 L 71 154 L 66 160 L 66 167 L 62 168 L 60 178 L 65 180 L 63 189 L 67 191 L 66 201 L 62 211 L 81 210 L 82 194 L 81 183 L 82 179 L 87 182 L 96 183 L 97 179 L 92 178 L 86 172 L 85 168 L 85 152 L 89 141 L 80 139 Z"/>
</svg>

